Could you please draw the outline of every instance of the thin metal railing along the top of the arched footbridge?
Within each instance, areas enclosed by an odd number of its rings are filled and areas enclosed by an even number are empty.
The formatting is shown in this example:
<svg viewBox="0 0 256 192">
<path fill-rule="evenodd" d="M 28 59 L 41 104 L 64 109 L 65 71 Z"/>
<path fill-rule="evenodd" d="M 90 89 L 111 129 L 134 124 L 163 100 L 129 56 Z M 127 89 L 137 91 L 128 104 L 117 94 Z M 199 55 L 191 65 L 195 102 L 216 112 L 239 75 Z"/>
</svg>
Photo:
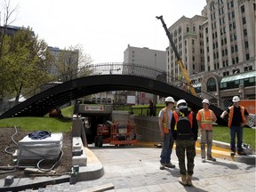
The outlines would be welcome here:
<svg viewBox="0 0 256 192">
<path fill-rule="evenodd" d="M 76 72 L 76 73 L 75 73 Z M 36 89 L 31 90 L 30 92 L 24 93 L 23 97 L 29 99 L 30 97 L 45 91 L 46 89 L 51 88 L 52 86 L 65 83 L 65 81 L 72 80 L 70 78 L 70 74 L 72 74 L 72 78 L 78 78 L 83 76 L 100 76 L 100 75 L 129 75 L 129 76 L 142 76 L 147 77 L 149 79 L 153 79 L 156 81 L 160 81 L 164 84 L 170 84 L 179 89 L 183 89 L 184 82 L 183 80 L 177 79 L 174 76 L 170 76 L 166 73 L 166 71 L 161 70 L 159 68 L 148 67 L 145 65 L 131 64 L 131 63 L 100 63 L 100 64 L 91 64 L 86 65 L 83 68 L 78 68 L 76 71 L 69 71 L 67 74 L 62 76 L 57 76 L 53 78 L 51 81 L 46 84 L 42 84 Z M 76 76 L 74 76 L 76 74 Z M 70 78 L 70 79 L 68 79 Z M 189 89 L 188 89 L 189 90 Z M 201 91 L 202 92 L 202 91 Z M 216 97 L 209 92 L 204 92 L 204 94 L 208 95 L 210 98 L 214 98 L 219 100 L 222 104 L 220 106 L 228 107 L 232 103 L 228 100 L 224 100 L 223 98 Z M 197 96 L 200 97 L 201 94 Z M 0 103 L 0 114 L 5 111 L 13 108 L 15 105 L 19 104 L 19 102 L 6 100 Z"/>
</svg>

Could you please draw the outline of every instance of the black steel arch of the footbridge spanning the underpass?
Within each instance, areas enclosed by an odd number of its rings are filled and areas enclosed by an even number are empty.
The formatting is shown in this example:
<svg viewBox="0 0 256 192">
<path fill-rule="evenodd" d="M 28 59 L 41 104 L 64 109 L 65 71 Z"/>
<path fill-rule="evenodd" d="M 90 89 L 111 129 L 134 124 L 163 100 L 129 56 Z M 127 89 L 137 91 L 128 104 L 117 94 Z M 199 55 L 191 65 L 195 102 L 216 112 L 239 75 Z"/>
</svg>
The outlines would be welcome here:
<svg viewBox="0 0 256 192">
<path fill-rule="evenodd" d="M 124 64 L 122 65 L 124 69 Z M 134 65 L 132 65 L 132 68 L 134 69 Z M 140 68 L 145 67 L 140 66 Z M 152 68 L 147 68 L 147 72 L 148 70 L 151 71 Z M 138 72 L 138 70 L 135 71 Z M 157 70 L 156 74 L 159 76 L 163 72 Z M 109 74 L 106 75 L 93 74 L 92 76 L 82 76 L 55 85 L 5 111 L 0 116 L 0 119 L 16 116 L 44 116 L 52 108 L 64 105 L 71 100 L 108 91 L 139 91 L 153 93 L 162 97 L 172 96 L 174 100 L 186 100 L 188 106 L 194 111 L 202 108 L 202 99 L 184 92 L 173 84 L 167 84 L 165 80 L 163 81 L 163 78 L 157 79 L 156 75 L 144 74 L 142 76 L 140 73 L 135 73 L 134 75 L 134 70 L 132 73 L 112 74 L 110 69 Z M 220 118 L 222 109 L 213 105 L 211 105 L 211 108 L 218 117 L 217 123 L 227 124 L 225 120 Z"/>
</svg>

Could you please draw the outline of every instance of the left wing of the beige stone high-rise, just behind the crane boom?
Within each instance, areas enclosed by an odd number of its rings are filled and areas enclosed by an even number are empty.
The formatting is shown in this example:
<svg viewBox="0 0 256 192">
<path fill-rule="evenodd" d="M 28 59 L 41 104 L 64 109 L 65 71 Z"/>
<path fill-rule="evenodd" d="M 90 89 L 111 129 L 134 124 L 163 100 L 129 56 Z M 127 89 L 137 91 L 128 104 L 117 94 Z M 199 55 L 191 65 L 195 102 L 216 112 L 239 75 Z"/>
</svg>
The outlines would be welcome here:
<svg viewBox="0 0 256 192">
<path fill-rule="evenodd" d="M 196 15 L 192 19 L 185 16 L 177 20 L 169 31 L 180 58 L 188 71 L 188 76 L 202 71 L 204 68 L 204 36 L 203 25 L 207 21 L 204 16 Z M 167 50 L 167 73 L 180 79 L 182 74 L 172 46 Z"/>
</svg>

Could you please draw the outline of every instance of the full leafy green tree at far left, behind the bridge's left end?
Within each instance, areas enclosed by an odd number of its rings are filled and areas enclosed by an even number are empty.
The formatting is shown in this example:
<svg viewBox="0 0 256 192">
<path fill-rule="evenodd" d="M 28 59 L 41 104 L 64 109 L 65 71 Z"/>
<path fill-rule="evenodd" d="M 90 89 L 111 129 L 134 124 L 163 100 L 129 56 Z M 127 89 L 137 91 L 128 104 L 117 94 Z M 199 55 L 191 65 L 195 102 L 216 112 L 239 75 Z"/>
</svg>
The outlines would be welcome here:
<svg viewBox="0 0 256 192">
<path fill-rule="evenodd" d="M 22 91 L 34 90 L 49 79 L 47 44 L 39 40 L 31 28 L 18 30 L 9 41 L 5 65 L 9 68 L 9 93 L 15 93 L 16 101 Z"/>
</svg>

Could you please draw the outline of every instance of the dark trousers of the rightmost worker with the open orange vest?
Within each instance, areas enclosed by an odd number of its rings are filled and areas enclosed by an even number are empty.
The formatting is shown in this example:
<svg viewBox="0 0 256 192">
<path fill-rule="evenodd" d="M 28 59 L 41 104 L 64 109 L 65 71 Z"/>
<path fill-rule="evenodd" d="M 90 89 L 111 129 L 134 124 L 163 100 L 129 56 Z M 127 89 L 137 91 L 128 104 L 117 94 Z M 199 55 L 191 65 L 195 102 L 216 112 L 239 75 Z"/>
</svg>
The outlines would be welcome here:
<svg viewBox="0 0 256 192">
<path fill-rule="evenodd" d="M 238 152 L 243 151 L 242 143 L 243 143 L 243 127 L 242 126 L 231 126 L 229 129 L 230 135 L 230 149 L 231 151 L 236 152 L 236 147 Z M 236 145 L 236 137 L 237 137 L 237 145 Z"/>
</svg>

